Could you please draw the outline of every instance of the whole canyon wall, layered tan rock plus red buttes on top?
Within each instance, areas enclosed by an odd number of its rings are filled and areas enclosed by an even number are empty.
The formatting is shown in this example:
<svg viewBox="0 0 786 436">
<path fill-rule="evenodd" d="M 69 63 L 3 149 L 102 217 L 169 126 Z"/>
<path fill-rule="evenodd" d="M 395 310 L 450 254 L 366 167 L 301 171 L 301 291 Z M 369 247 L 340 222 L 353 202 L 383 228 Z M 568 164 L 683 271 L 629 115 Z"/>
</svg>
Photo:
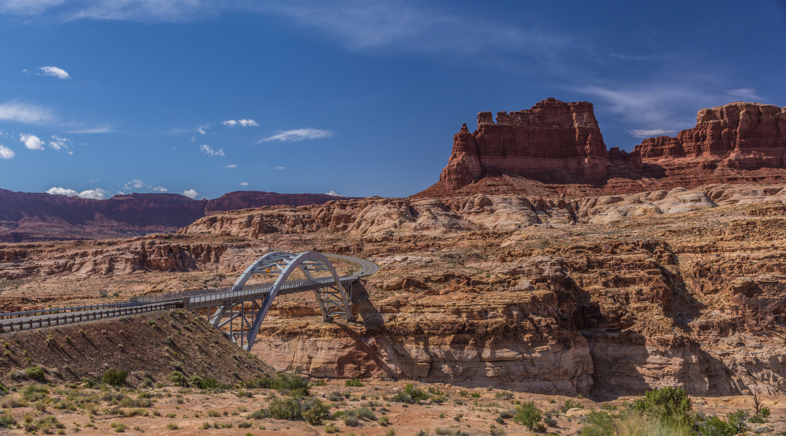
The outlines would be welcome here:
<svg viewBox="0 0 786 436">
<path fill-rule="evenodd" d="M 228 286 L 274 247 L 347 253 L 380 265 L 353 289 L 358 320 L 277 297 L 252 354 L 314 377 L 596 400 L 783 394 L 784 109 L 703 109 L 630 153 L 606 150 L 592 110 L 480 113 L 439 183 L 410 198 L 238 196 L 176 234 L 2 242 L 0 307 Z"/>
</svg>

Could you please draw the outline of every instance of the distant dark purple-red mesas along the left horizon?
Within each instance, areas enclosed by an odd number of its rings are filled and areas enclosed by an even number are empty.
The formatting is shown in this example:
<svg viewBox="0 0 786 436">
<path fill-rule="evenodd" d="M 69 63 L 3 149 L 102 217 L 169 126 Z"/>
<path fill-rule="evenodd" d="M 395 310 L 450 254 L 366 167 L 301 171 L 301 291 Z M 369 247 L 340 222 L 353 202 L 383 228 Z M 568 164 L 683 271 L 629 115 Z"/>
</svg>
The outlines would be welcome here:
<svg viewBox="0 0 786 436">
<path fill-rule="evenodd" d="M 269 205 L 311 205 L 327 194 L 235 191 L 197 201 L 178 194 L 123 194 L 106 200 L 0 189 L 0 242 L 129 238 L 174 233 L 211 213 Z"/>
</svg>

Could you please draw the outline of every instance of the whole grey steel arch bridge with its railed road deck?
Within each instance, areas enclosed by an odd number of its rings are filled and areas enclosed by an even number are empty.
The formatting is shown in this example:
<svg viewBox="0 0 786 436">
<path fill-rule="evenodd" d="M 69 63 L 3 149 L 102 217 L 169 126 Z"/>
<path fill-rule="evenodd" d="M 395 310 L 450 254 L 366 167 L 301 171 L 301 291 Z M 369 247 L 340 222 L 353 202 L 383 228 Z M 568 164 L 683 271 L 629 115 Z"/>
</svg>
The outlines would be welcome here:
<svg viewBox="0 0 786 436">
<path fill-rule="evenodd" d="M 351 275 L 339 276 L 330 263 L 330 257 L 349 260 L 360 265 L 361 269 Z M 379 267 L 373 262 L 358 257 L 315 251 L 299 254 L 274 251 L 255 260 L 232 286 L 226 288 L 144 295 L 131 297 L 125 303 L 110 305 L 0 313 L 0 332 L 81 323 L 180 307 L 204 312 L 214 327 L 224 331 L 242 349 L 250 350 L 270 305 L 278 295 L 313 291 L 323 321 L 329 321 L 333 316 L 342 316 L 351 321 L 353 284 L 378 270 Z M 302 272 L 303 279 L 290 279 L 294 272 Z M 325 273 L 327 275 L 315 276 Z M 248 279 L 255 274 L 278 277 L 273 283 L 247 285 Z M 236 330 L 238 322 L 240 325 Z"/>
</svg>

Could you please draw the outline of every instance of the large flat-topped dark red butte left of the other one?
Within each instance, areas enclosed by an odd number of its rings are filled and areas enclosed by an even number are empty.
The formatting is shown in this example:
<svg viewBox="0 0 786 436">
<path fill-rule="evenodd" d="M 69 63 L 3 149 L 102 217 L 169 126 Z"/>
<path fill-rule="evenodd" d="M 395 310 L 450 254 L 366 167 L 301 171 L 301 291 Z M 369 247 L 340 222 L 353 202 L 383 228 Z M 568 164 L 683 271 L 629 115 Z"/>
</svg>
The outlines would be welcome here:
<svg viewBox="0 0 786 436">
<path fill-rule="evenodd" d="M 589 102 L 548 98 L 532 109 L 478 113 L 478 129 L 467 125 L 454 136 L 450 161 L 439 177 L 448 189 L 464 187 L 484 176 L 505 172 L 564 183 L 605 179 L 625 166 L 641 169 L 637 155 L 615 149 L 613 157 Z"/>
</svg>

